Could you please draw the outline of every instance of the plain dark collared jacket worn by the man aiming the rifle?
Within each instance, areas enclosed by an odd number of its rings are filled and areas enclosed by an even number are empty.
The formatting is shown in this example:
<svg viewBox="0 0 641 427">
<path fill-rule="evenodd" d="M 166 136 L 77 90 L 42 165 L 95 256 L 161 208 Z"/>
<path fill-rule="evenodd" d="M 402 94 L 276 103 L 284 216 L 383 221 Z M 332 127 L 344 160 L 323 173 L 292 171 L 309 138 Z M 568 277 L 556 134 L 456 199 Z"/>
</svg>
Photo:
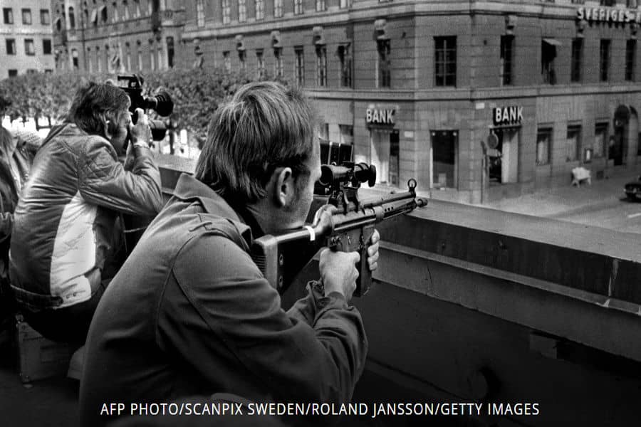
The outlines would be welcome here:
<svg viewBox="0 0 641 427">
<path fill-rule="evenodd" d="M 104 402 L 229 393 L 250 401 L 347 402 L 365 364 L 360 314 L 343 295 L 284 312 L 249 255 L 251 228 L 202 182 L 180 176 L 105 291 L 88 334 L 80 424 Z"/>
</svg>

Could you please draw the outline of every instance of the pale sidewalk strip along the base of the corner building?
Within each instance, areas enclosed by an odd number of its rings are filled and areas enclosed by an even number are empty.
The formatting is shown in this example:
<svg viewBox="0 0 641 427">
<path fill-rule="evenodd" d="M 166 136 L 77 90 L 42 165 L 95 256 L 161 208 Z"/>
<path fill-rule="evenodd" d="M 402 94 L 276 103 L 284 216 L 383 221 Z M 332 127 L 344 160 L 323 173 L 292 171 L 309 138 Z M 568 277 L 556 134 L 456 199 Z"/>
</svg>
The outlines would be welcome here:
<svg viewBox="0 0 641 427">
<path fill-rule="evenodd" d="M 477 204 L 475 206 L 499 209 L 506 212 L 554 218 L 560 215 L 579 213 L 585 207 L 595 209 L 608 206 L 625 197 L 623 186 L 636 179 L 638 174 L 630 173 L 610 179 L 593 179 L 592 185 L 561 186 L 539 190 L 512 199 Z"/>
</svg>

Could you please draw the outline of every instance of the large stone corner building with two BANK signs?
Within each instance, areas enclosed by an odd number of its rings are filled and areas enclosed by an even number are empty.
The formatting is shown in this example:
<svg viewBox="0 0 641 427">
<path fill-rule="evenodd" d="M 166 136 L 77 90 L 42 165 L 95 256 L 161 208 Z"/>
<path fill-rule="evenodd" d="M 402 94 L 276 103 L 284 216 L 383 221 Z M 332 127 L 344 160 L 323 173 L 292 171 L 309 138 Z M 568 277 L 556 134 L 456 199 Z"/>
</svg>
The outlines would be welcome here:
<svg viewBox="0 0 641 427">
<path fill-rule="evenodd" d="M 187 66 L 283 75 L 330 141 L 479 203 L 641 168 L 634 0 L 197 0 Z"/>
</svg>

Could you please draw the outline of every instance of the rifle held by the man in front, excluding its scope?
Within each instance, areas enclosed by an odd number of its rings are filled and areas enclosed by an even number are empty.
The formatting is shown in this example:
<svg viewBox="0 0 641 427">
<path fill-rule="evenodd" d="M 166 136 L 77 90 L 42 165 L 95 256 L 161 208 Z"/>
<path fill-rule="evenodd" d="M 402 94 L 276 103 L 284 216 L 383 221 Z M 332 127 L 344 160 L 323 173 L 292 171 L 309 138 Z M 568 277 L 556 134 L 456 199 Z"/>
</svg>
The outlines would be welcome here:
<svg viewBox="0 0 641 427">
<path fill-rule="evenodd" d="M 407 214 L 417 206 L 427 205 L 427 199 L 410 191 L 386 194 L 360 202 L 350 201 L 338 209 L 325 204 L 316 211 L 315 221 L 296 230 L 257 238 L 251 247 L 251 258 L 266 280 L 283 293 L 303 267 L 320 248 L 360 253 L 356 266 L 359 277 L 355 296 L 364 295 L 372 283 L 368 268 L 368 243 L 375 224 L 400 214 Z"/>
</svg>

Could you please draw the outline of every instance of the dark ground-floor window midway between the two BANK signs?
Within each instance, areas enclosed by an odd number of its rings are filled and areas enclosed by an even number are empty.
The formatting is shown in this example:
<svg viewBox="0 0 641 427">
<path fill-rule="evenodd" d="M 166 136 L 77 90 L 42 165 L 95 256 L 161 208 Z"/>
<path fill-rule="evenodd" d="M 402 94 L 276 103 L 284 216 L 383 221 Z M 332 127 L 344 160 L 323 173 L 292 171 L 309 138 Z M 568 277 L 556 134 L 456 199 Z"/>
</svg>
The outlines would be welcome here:
<svg viewBox="0 0 641 427">
<path fill-rule="evenodd" d="M 459 132 L 438 130 L 432 132 L 432 186 L 457 188 L 457 147 Z"/>
</svg>

